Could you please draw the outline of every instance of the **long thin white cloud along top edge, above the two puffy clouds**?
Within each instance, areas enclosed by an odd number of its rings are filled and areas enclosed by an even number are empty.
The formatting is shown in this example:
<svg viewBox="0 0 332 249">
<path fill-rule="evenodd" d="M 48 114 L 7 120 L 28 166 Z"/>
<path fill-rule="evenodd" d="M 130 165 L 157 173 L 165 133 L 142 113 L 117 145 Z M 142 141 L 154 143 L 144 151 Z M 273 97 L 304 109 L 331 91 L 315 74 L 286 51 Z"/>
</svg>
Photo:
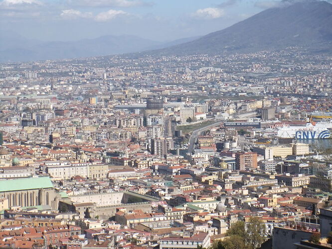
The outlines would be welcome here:
<svg viewBox="0 0 332 249">
<path fill-rule="evenodd" d="M 152 3 L 142 0 L 70 0 L 70 4 L 94 7 L 133 7 Z"/>
</svg>

